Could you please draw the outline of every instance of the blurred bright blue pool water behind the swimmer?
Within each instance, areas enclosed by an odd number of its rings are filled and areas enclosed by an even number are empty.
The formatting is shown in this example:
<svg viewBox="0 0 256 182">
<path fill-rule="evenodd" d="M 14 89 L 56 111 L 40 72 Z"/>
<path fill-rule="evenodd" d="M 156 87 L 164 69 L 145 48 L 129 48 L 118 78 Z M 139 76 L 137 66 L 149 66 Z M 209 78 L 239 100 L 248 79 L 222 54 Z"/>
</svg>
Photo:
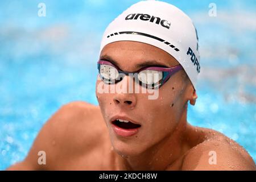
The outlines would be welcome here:
<svg viewBox="0 0 256 182">
<path fill-rule="evenodd" d="M 46 16 L 38 16 L 38 4 Z M 101 36 L 135 0 L 0 1 L 0 169 L 23 160 L 42 125 L 75 100 L 97 105 Z M 256 1 L 166 1 L 199 34 L 192 125 L 221 131 L 256 160 Z M 208 15 L 216 3 L 217 16 Z"/>
</svg>

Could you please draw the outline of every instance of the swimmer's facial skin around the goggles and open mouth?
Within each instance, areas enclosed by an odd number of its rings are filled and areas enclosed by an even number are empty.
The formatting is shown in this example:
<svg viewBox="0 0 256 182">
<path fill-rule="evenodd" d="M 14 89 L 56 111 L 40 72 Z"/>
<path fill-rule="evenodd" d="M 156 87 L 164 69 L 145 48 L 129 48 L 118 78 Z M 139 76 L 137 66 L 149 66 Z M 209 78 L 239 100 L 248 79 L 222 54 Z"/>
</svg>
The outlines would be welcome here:
<svg viewBox="0 0 256 182">
<path fill-rule="evenodd" d="M 167 52 L 145 43 L 120 41 L 106 45 L 102 49 L 100 59 L 112 59 L 119 69 L 125 72 L 136 72 L 141 67 L 138 65 L 156 66 L 163 65 L 174 67 L 179 63 Z M 154 62 L 152 62 L 154 61 Z M 127 82 L 132 77 L 126 76 L 122 81 Z M 139 155 L 154 146 L 168 135 L 171 135 L 180 121 L 187 101 L 189 100 L 188 87 L 191 86 L 184 77 L 183 70 L 176 72 L 158 90 L 158 98 L 149 100 L 150 93 L 102 93 L 102 84 L 98 77 L 96 96 L 101 108 L 102 116 L 109 129 L 109 135 L 115 151 L 120 155 Z M 189 86 L 188 86 L 189 85 Z M 106 86 L 108 86 L 106 84 Z M 141 86 L 140 86 L 141 87 Z M 151 93 L 152 94 L 152 93 Z M 126 120 L 137 122 L 141 125 L 137 134 L 122 137 L 113 130 L 112 118 L 116 115 L 125 116 Z M 122 118 L 121 118 L 122 119 Z"/>
</svg>

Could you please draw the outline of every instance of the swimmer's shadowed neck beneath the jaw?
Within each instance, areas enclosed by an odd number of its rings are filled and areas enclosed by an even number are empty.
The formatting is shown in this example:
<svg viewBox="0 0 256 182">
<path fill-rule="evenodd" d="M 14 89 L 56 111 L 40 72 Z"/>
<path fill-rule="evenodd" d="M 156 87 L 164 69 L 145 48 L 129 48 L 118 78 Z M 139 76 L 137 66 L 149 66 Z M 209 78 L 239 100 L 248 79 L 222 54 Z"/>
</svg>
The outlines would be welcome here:
<svg viewBox="0 0 256 182">
<path fill-rule="evenodd" d="M 164 170 L 171 166 L 185 152 L 184 136 L 187 128 L 187 111 L 183 113 L 174 131 L 159 143 L 138 156 L 122 158 L 122 170 Z"/>
</svg>

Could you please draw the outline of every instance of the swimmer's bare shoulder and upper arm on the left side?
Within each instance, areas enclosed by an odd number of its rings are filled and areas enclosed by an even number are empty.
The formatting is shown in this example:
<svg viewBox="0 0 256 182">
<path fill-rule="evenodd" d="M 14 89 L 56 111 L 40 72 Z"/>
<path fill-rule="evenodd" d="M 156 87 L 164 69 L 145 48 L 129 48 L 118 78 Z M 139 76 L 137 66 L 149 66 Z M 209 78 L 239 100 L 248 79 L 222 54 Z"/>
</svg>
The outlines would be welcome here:
<svg viewBox="0 0 256 182">
<path fill-rule="evenodd" d="M 57 169 L 71 159 L 93 150 L 93 138 L 101 140 L 104 120 L 98 106 L 82 101 L 65 104 L 44 124 L 27 158 L 9 169 Z M 99 135 L 101 134 L 101 135 Z M 38 152 L 44 151 L 46 165 L 38 164 Z M 16 166 L 16 168 L 15 168 Z"/>
</svg>

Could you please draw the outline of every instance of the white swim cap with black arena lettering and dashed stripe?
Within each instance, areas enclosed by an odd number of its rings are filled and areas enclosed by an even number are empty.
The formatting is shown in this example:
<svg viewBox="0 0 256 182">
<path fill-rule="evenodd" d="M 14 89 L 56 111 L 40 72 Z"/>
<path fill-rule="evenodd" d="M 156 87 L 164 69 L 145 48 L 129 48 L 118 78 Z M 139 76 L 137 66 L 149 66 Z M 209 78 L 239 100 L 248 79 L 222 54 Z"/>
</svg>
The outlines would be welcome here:
<svg viewBox="0 0 256 182">
<path fill-rule="evenodd" d="M 194 88 L 200 73 L 196 28 L 177 7 L 161 1 L 140 1 L 106 28 L 100 52 L 106 44 L 131 40 L 147 43 L 172 55 L 184 68 Z"/>
</svg>

